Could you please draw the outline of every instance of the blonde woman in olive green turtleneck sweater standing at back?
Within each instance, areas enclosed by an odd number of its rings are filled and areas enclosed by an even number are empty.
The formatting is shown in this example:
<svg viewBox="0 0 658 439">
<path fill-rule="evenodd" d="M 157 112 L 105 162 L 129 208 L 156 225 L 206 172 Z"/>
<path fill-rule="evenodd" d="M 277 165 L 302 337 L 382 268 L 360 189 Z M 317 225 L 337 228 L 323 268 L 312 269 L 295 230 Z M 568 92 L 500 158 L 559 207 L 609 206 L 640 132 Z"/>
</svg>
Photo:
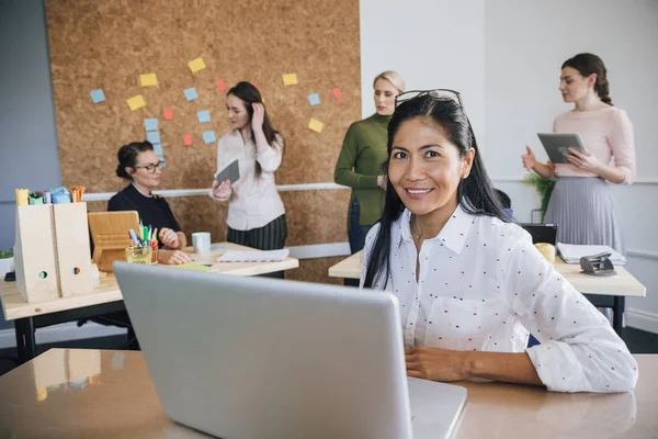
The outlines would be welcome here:
<svg viewBox="0 0 658 439">
<path fill-rule="evenodd" d="M 376 112 L 350 125 L 333 171 L 336 183 L 352 188 L 348 210 L 352 254 L 363 249 L 367 230 L 384 209 L 386 178 L 382 164 L 386 161 L 386 128 L 395 110 L 395 97 L 405 90 L 405 81 L 387 70 L 375 77 L 373 89 Z"/>
</svg>

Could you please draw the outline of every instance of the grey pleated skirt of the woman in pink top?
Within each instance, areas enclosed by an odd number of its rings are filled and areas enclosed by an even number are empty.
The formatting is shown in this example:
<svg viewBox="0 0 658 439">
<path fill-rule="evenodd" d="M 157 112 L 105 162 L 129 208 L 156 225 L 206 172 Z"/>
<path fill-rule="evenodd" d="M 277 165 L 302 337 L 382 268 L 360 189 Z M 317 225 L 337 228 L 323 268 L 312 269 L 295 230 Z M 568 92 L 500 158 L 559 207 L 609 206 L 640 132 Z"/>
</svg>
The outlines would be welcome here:
<svg viewBox="0 0 658 439">
<path fill-rule="evenodd" d="M 624 254 L 612 193 L 603 179 L 559 177 L 544 222 L 558 224 L 558 243 L 605 245 Z"/>
</svg>

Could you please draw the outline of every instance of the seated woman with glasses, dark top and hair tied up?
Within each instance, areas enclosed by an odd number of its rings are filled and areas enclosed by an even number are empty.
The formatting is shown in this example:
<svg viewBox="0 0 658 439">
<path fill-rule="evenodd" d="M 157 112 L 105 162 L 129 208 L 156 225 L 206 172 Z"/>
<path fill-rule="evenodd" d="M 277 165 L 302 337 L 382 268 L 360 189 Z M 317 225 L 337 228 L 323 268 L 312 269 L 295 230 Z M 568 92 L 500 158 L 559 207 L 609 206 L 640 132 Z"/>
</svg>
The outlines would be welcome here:
<svg viewBox="0 0 658 439">
<path fill-rule="evenodd" d="M 133 142 L 118 149 L 116 176 L 129 184 L 110 199 L 107 211 L 137 211 L 144 225 L 158 229 L 158 239 L 163 248 L 158 260 L 167 264 L 190 262 L 181 251 L 188 245 L 169 203 L 151 193 L 160 185 L 163 162 L 160 161 L 149 142 Z"/>
</svg>

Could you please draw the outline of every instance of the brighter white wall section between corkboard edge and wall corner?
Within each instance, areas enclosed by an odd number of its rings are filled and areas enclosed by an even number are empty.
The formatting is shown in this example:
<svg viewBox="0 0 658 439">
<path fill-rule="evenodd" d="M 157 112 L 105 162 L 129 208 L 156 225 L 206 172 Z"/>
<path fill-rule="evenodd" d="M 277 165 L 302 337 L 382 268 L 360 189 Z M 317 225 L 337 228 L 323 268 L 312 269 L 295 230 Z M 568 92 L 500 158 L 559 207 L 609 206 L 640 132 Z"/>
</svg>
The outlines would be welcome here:
<svg viewBox="0 0 658 439">
<path fill-rule="evenodd" d="M 485 0 L 361 0 L 362 112 L 375 112 L 373 78 L 396 70 L 407 90 L 462 93 L 478 139 L 485 136 Z"/>
</svg>

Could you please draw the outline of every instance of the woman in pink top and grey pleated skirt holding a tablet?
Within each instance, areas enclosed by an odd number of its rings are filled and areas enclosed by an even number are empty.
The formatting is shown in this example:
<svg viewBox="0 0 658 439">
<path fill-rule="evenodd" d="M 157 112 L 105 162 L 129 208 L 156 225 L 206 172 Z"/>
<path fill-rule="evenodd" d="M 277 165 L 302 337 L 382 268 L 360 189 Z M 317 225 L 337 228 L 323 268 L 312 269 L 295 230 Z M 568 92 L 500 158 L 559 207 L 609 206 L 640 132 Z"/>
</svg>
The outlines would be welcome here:
<svg viewBox="0 0 658 439">
<path fill-rule="evenodd" d="M 608 245 L 623 252 L 619 223 L 608 181 L 635 180 L 633 125 L 624 110 L 612 104 L 606 70 L 597 55 L 578 54 L 561 66 L 559 91 L 574 110 L 558 115 L 555 133 L 580 133 L 586 153 L 569 148 L 569 164 L 542 164 L 530 146 L 523 166 L 557 178 L 546 210 L 546 223 L 559 224 L 557 240 Z"/>
</svg>

